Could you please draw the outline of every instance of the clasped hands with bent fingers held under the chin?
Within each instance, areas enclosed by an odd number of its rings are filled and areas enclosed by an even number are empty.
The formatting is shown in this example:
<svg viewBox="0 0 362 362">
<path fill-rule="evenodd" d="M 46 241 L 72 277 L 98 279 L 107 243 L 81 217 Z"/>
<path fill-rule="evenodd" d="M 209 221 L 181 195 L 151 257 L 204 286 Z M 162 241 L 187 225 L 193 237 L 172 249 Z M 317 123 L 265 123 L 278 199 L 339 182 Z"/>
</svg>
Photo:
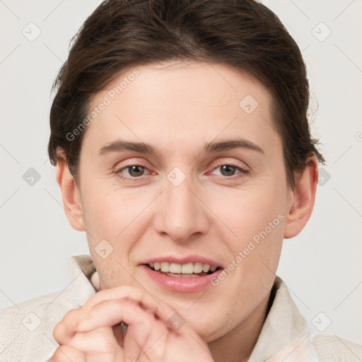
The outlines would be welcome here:
<svg viewBox="0 0 362 362">
<path fill-rule="evenodd" d="M 187 322 L 170 322 L 172 316 L 181 320 L 175 313 L 134 286 L 99 291 L 55 326 L 60 346 L 50 362 L 214 362 Z"/>
</svg>

